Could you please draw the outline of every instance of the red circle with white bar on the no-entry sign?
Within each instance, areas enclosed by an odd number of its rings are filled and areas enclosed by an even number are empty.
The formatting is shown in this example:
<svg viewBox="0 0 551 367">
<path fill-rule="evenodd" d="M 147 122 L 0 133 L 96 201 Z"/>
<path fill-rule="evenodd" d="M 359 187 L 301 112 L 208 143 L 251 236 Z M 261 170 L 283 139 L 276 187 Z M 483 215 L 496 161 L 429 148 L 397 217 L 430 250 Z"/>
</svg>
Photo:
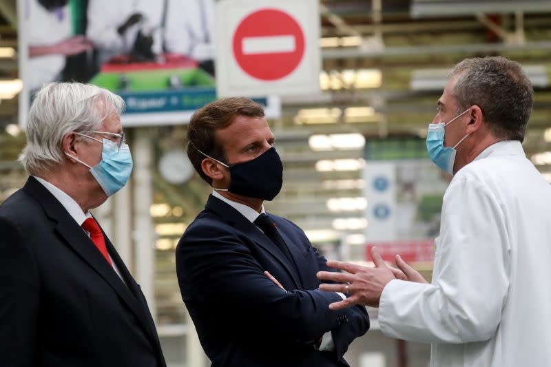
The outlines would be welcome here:
<svg viewBox="0 0 551 367">
<path fill-rule="evenodd" d="M 290 14 L 277 9 L 252 12 L 233 34 L 233 56 L 253 78 L 275 81 L 293 72 L 304 56 L 304 33 Z"/>
</svg>

